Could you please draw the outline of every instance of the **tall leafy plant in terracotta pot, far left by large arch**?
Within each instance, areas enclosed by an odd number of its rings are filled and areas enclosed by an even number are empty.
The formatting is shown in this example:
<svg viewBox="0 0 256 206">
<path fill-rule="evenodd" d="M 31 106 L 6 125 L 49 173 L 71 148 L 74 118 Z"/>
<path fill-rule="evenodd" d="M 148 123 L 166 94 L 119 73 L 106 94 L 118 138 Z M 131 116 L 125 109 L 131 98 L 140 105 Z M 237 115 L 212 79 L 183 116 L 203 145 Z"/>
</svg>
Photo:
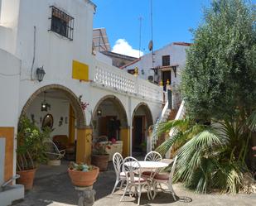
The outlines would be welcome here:
<svg viewBox="0 0 256 206">
<path fill-rule="evenodd" d="M 20 118 L 17 130 L 17 174 L 18 184 L 24 184 L 25 189 L 31 189 L 36 173 L 36 166 L 46 162 L 46 148 L 43 144 L 50 138 L 51 130 L 40 130 L 27 117 Z"/>
</svg>

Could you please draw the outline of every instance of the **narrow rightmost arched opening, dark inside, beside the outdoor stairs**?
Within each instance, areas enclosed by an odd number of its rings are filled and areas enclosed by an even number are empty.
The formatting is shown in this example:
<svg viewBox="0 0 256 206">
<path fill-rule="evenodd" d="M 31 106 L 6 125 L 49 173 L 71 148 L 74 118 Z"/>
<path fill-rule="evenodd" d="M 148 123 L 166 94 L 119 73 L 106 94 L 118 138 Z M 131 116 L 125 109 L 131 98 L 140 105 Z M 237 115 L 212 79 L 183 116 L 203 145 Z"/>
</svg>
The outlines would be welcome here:
<svg viewBox="0 0 256 206">
<path fill-rule="evenodd" d="M 143 156 L 147 152 L 148 127 L 153 124 L 152 113 L 146 103 L 139 103 L 133 111 L 132 152 Z"/>
</svg>

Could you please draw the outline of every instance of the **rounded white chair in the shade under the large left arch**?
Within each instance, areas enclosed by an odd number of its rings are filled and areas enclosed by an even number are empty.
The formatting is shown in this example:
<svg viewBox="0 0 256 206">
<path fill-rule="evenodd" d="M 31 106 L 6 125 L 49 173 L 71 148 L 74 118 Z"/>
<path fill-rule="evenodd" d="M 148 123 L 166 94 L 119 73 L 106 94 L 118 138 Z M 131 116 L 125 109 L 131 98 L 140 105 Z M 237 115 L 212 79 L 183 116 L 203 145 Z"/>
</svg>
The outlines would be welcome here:
<svg viewBox="0 0 256 206">
<path fill-rule="evenodd" d="M 59 150 L 58 146 L 50 139 L 44 141 L 44 146 L 46 146 L 46 155 L 50 160 L 60 160 L 65 156 L 65 150 Z"/>
</svg>

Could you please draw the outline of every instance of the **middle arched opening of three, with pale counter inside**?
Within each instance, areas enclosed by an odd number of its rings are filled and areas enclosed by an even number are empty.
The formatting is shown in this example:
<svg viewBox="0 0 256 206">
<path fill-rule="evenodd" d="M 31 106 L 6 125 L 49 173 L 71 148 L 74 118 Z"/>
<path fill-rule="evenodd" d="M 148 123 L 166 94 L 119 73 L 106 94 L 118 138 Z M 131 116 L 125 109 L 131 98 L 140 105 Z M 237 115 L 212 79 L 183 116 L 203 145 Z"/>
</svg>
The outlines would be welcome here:
<svg viewBox="0 0 256 206">
<path fill-rule="evenodd" d="M 93 141 L 107 144 L 109 160 L 115 152 L 129 155 L 128 118 L 121 101 L 114 95 L 101 98 L 94 108 L 91 120 Z M 107 142 L 106 142 L 107 141 Z"/>
</svg>

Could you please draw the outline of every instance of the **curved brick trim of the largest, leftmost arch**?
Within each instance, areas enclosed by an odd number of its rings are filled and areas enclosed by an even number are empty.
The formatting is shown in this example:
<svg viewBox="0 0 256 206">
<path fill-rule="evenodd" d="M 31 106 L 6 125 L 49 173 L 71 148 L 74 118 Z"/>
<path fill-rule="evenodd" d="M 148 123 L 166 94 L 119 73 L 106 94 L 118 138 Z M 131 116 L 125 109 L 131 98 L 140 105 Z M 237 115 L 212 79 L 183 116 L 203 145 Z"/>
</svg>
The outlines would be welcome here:
<svg viewBox="0 0 256 206">
<path fill-rule="evenodd" d="M 70 104 L 75 112 L 76 117 L 76 127 L 79 129 L 83 129 L 86 127 L 86 119 L 85 119 L 85 113 L 84 110 L 80 106 L 79 98 L 76 97 L 75 93 L 73 93 L 70 89 L 66 88 L 65 86 L 62 86 L 60 84 L 50 84 L 46 85 L 44 87 L 41 87 L 40 89 L 37 89 L 36 92 L 31 94 L 31 97 L 27 100 L 27 103 L 25 103 L 24 107 L 22 108 L 22 115 L 25 115 L 27 112 L 27 109 L 31 106 L 31 103 L 36 99 L 36 97 L 49 89 L 55 89 L 57 91 L 60 91 L 62 93 L 65 93 L 65 97 L 68 98 L 70 101 Z"/>
</svg>

